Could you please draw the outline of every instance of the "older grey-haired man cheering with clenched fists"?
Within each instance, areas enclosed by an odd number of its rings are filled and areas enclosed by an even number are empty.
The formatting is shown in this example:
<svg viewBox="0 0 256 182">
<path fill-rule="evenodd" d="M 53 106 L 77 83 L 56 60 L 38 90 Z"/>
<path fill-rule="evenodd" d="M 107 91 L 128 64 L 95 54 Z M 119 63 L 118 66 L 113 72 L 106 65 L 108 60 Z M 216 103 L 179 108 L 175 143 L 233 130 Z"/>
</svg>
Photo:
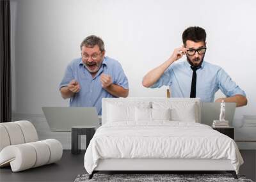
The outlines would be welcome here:
<svg viewBox="0 0 256 182">
<path fill-rule="evenodd" d="M 128 80 L 121 64 L 105 57 L 101 38 L 88 36 L 80 48 L 81 57 L 68 64 L 61 80 L 61 96 L 70 98 L 70 107 L 96 107 L 101 115 L 102 98 L 128 96 Z"/>
</svg>

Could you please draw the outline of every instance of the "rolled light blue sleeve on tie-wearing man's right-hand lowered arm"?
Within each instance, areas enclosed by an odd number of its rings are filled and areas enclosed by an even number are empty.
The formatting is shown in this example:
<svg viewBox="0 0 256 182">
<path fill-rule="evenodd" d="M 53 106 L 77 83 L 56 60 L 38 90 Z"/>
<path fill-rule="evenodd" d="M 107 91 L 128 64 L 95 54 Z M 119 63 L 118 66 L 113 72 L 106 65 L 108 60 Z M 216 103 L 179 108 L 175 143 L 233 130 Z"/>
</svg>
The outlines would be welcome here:
<svg viewBox="0 0 256 182">
<path fill-rule="evenodd" d="M 225 96 L 246 96 L 245 92 L 239 86 L 237 86 L 236 82 L 234 82 L 222 68 L 217 73 L 217 79 L 219 83 L 218 86 Z"/>
</svg>

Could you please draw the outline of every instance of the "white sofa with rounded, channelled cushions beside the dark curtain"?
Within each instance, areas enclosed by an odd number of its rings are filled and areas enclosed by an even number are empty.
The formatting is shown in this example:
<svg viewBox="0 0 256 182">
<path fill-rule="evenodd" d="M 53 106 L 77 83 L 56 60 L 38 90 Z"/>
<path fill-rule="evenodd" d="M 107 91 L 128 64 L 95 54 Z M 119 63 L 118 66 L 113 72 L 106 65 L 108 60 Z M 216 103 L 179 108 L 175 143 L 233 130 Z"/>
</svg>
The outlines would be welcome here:
<svg viewBox="0 0 256 182">
<path fill-rule="evenodd" d="M 13 172 L 56 162 L 62 145 L 56 139 L 38 141 L 35 126 L 29 121 L 0 123 L 0 167 Z"/>
</svg>

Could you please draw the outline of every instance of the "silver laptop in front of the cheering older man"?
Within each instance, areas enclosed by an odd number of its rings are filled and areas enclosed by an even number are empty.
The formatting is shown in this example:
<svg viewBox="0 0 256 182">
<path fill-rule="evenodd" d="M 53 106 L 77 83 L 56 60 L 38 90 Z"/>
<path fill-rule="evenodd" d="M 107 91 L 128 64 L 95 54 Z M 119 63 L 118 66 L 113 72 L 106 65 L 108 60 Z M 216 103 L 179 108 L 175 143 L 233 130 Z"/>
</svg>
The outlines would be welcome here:
<svg viewBox="0 0 256 182">
<path fill-rule="evenodd" d="M 42 107 L 52 132 L 71 132 L 72 126 L 99 127 L 95 107 Z"/>
</svg>

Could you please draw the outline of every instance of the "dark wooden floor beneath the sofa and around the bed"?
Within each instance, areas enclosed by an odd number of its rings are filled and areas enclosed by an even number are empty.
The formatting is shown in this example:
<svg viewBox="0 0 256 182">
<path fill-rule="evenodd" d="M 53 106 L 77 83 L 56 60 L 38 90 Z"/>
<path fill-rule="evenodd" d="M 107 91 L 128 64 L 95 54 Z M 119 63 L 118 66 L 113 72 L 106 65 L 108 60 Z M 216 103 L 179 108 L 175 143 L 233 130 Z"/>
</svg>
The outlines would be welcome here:
<svg viewBox="0 0 256 182">
<path fill-rule="evenodd" d="M 239 174 L 255 181 L 256 151 L 241 150 L 244 164 Z M 0 169 L 0 181 L 74 181 L 78 174 L 86 173 L 84 169 L 84 152 L 72 155 L 70 150 L 64 150 L 61 160 L 57 163 L 44 165 L 21 172 L 12 172 L 10 167 Z"/>
</svg>

